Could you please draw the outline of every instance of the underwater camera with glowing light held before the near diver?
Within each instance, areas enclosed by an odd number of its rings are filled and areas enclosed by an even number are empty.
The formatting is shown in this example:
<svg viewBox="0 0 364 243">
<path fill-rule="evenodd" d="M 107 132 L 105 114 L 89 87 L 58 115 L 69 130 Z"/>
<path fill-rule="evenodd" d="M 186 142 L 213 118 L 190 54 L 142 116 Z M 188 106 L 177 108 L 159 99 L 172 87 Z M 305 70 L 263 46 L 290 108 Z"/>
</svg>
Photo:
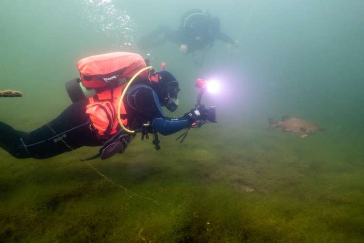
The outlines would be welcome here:
<svg viewBox="0 0 364 243">
<path fill-rule="evenodd" d="M 216 106 L 210 106 L 206 108 L 205 105 L 201 104 L 202 95 L 205 91 L 209 93 L 216 93 L 219 89 L 219 83 L 214 80 L 203 80 L 198 78 L 196 80 L 196 87 L 200 89 L 197 96 L 196 109 L 202 111 L 202 118 L 204 121 L 217 122 L 216 121 Z"/>
</svg>

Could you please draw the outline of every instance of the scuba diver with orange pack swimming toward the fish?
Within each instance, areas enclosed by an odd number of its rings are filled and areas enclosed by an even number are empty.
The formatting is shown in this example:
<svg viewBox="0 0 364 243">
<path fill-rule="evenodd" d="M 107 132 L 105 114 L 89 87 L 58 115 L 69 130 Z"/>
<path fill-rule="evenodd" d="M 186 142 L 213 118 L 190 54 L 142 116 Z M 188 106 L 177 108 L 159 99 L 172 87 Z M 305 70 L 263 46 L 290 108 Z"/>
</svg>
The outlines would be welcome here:
<svg viewBox="0 0 364 243">
<path fill-rule="evenodd" d="M 206 119 L 203 108 L 191 109 L 181 118 L 166 117 L 161 106 L 177 109 L 178 81 L 147 64 L 130 52 L 81 59 L 81 77 L 66 83 L 73 103 L 29 133 L 0 122 L 0 147 L 16 158 L 45 159 L 82 146 L 102 146 L 91 158 L 105 159 L 123 153 L 136 132 L 142 139 L 152 134 L 158 150 L 157 132 L 170 135 Z"/>
</svg>

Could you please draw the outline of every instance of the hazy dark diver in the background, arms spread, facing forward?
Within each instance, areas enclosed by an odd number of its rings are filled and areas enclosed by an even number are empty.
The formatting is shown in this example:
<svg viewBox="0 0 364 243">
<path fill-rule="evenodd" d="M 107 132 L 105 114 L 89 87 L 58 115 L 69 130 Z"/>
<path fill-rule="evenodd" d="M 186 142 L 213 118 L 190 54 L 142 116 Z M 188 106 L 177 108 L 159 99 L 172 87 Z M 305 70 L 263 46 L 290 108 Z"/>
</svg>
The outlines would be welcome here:
<svg viewBox="0 0 364 243">
<path fill-rule="evenodd" d="M 139 41 L 142 49 L 158 47 L 166 41 L 180 46 L 182 53 L 193 54 L 197 50 L 212 48 L 215 39 L 227 43 L 228 48 L 238 46 L 238 41 L 232 40 L 220 31 L 220 19 L 212 17 L 209 12 L 193 9 L 184 13 L 180 20 L 178 31 L 161 25 Z"/>
</svg>

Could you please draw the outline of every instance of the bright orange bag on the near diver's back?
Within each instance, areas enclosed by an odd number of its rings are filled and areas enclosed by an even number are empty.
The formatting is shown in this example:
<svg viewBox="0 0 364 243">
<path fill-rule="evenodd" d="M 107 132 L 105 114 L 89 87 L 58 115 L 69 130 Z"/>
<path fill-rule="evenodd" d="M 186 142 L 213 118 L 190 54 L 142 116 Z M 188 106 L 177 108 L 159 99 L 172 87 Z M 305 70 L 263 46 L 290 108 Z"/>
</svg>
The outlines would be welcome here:
<svg viewBox="0 0 364 243">
<path fill-rule="evenodd" d="M 118 130 L 117 108 L 126 83 L 140 69 L 147 67 L 145 60 L 136 53 L 113 52 L 81 59 L 77 64 L 81 83 L 88 89 L 94 88 L 96 95 L 89 98 L 86 113 L 90 116 L 99 136 L 110 137 Z M 148 77 L 148 71 L 139 76 Z M 126 117 L 124 104 L 120 114 Z M 127 119 L 123 120 L 127 125 Z"/>
</svg>

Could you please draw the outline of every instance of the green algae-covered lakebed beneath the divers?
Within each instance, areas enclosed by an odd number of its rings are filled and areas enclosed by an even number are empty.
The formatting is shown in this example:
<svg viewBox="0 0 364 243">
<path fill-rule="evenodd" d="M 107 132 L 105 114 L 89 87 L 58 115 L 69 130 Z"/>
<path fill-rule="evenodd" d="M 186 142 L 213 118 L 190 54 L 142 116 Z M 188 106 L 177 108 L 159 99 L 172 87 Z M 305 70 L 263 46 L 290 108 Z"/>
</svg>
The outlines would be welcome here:
<svg viewBox="0 0 364 243">
<path fill-rule="evenodd" d="M 98 148 L 1 151 L 0 242 L 363 242 L 359 147 L 329 132 L 213 126 L 90 162 L 112 182 L 80 161 Z"/>
</svg>

